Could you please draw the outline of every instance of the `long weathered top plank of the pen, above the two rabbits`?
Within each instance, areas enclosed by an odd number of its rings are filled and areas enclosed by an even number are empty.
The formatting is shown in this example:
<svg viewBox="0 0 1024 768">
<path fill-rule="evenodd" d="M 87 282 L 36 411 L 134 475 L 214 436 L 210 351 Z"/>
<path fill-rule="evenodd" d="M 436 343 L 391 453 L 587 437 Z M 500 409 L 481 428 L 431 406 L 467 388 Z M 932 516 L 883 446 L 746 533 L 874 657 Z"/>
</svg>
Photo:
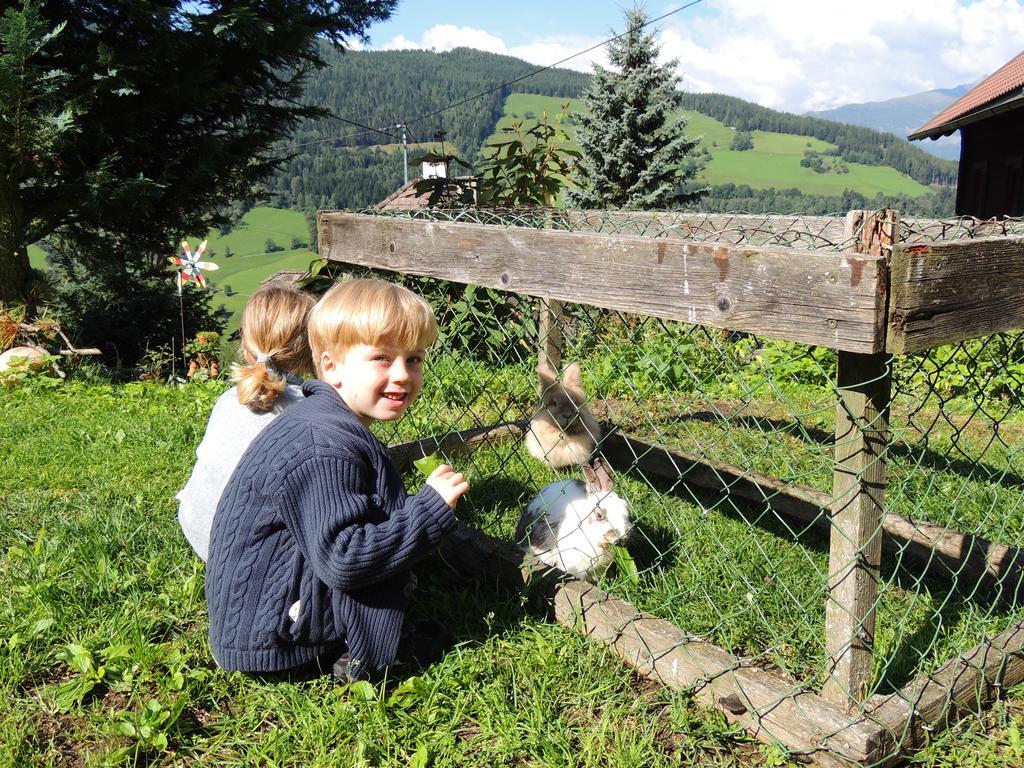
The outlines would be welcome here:
<svg viewBox="0 0 1024 768">
<path fill-rule="evenodd" d="M 319 215 L 346 263 L 857 352 L 881 351 L 885 259 L 866 254 Z"/>
</svg>

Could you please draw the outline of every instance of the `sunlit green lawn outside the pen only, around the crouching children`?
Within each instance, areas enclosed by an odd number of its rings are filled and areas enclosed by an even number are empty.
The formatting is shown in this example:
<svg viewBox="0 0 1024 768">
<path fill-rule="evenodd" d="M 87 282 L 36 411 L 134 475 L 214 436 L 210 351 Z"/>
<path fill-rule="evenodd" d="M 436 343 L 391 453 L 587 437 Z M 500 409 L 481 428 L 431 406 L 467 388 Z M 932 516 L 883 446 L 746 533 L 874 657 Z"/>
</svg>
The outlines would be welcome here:
<svg viewBox="0 0 1024 768">
<path fill-rule="evenodd" d="M 420 569 L 415 610 L 457 645 L 421 677 L 381 690 L 215 669 L 172 497 L 218 392 L 0 400 L 0 766 L 760 763 L 720 716 L 441 563 Z"/>
</svg>

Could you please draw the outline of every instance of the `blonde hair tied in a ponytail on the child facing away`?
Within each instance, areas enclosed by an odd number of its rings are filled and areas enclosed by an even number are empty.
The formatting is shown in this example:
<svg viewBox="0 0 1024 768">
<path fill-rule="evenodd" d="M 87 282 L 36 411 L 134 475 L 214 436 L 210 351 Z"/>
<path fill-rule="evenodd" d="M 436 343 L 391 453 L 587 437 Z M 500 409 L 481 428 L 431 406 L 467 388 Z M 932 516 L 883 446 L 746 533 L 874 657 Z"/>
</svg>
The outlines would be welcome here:
<svg viewBox="0 0 1024 768">
<path fill-rule="evenodd" d="M 312 373 L 306 322 L 313 297 L 291 286 L 268 286 L 253 294 L 242 315 L 245 362 L 231 366 L 239 402 L 270 411 L 288 385 L 288 374 Z"/>
</svg>

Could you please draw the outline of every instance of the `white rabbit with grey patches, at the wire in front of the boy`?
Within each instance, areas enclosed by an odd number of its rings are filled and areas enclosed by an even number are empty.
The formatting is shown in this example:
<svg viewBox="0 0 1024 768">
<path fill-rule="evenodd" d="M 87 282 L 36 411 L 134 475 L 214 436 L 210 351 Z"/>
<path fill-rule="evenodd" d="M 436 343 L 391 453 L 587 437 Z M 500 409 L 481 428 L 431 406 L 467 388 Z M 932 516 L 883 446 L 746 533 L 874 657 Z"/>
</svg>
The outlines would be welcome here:
<svg viewBox="0 0 1024 768">
<path fill-rule="evenodd" d="M 541 562 L 593 581 L 611 564 L 611 549 L 630 532 L 629 504 L 611 489 L 601 459 L 584 465 L 587 483 L 559 480 L 541 488 L 519 516 L 516 542 Z"/>
</svg>

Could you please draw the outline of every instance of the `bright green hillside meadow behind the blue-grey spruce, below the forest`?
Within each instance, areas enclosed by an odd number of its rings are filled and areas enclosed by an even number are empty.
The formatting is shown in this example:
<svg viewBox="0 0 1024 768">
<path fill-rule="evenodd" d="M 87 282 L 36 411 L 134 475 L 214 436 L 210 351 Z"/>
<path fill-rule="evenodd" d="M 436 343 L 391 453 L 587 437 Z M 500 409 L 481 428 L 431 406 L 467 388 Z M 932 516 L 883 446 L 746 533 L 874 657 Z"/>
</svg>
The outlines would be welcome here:
<svg viewBox="0 0 1024 768">
<path fill-rule="evenodd" d="M 496 133 L 486 142 L 495 140 L 497 131 L 510 126 L 513 121 L 521 120 L 530 125 L 545 112 L 553 118 L 566 102 L 571 111 L 580 109 L 578 99 L 512 93 L 505 99 L 504 113 Z M 527 117 L 530 114 L 535 117 Z M 880 193 L 918 196 L 929 191 L 924 184 L 886 166 L 850 163 L 849 173 L 844 174 L 815 173 L 810 168 L 803 168 L 800 161 L 806 151 L 824 153 L 836 148 L 835 144 L 808 136 L 755 131 L 753 150 L 733 152 L 729 150 L 734 135 L 732 129 L 699 113 L 684 111 L 682 115 L 688 121 L 687 133 L 701 137 L 697 152 L 707 148 L 712 155 L 700 176 L 701 180 L 711 184 L 748 184 L 756 189 L 797 187 L 806 195 L 830 196 L 842 195 L 849 188 L 868 198 Z M 570 140 L 567 145 L 579 148 L 571 127 L 568 135 Z"/>
</svg>

